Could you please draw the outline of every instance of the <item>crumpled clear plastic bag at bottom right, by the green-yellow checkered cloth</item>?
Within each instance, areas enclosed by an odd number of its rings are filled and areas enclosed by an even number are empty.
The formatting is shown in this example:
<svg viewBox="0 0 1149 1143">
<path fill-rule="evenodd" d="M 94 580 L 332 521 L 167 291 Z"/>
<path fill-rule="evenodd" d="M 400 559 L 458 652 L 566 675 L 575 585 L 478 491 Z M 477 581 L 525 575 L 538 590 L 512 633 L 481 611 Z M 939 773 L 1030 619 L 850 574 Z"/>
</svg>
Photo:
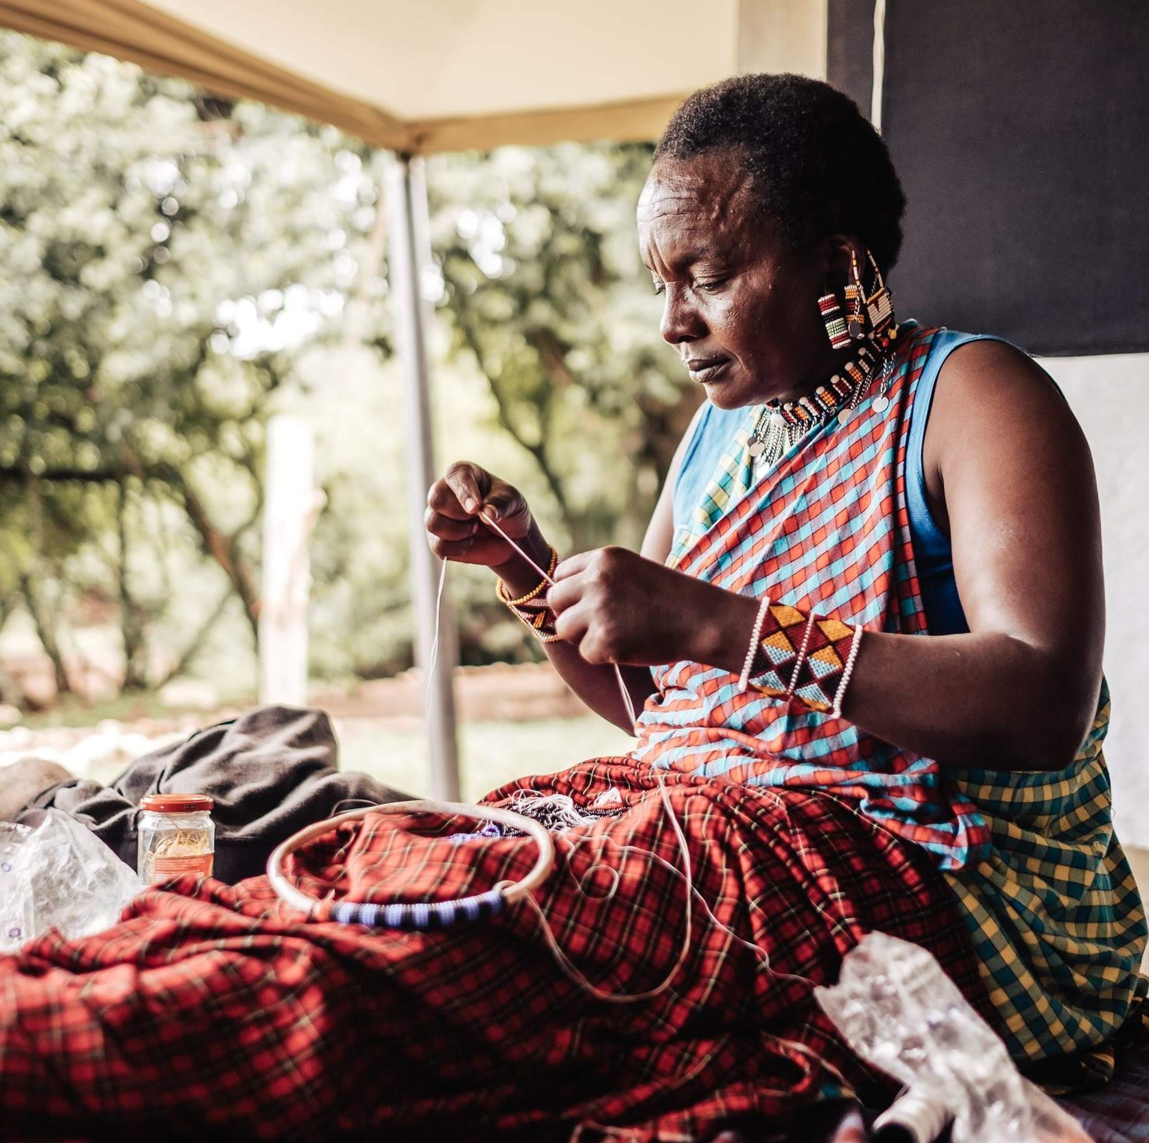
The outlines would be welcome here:
<svg viewBox="0 0 1149 1143">
<path fill-rule="evenodd" d="M 919 945 L 870 933 L 815 995 L 850 1048 L 905 1086 L 876 1126 L 917 1143 L 950 1121 L 954 1143 L 1090 1143 Z"/>
</svg>

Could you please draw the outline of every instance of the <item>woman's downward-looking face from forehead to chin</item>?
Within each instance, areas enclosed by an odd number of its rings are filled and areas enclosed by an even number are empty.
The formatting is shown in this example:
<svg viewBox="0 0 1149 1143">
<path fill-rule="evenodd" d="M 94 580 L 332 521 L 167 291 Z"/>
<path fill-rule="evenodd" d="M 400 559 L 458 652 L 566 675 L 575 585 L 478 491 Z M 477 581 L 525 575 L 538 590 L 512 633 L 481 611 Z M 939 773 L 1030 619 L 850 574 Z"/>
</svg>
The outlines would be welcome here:
<svg viewBox="0 0 1149 1143">
<path fill-rule="evenodd" d="M 779 240 L 735 155 L 661 160 L 638 224 L 662 335 L 718 408 L 791 400 L 841 364 L 818 312 L 828 249 L 803 255 Z"/>
</svg>

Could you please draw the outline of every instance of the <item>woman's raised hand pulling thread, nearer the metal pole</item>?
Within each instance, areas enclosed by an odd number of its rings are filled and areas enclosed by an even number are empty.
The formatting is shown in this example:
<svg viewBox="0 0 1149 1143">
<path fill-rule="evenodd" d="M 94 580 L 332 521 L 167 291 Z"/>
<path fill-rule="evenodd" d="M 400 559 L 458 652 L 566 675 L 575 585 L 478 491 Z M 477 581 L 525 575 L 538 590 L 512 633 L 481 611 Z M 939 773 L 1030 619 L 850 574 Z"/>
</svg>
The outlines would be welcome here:
<svg viewBox="0 0 1149 1143">
<path fill-rule="evenodd" d="M 424 522 L 431 550 L 440 559 L 481 564 L 500 573 L 514 572 L 518 565 L 529 567 L 498 532 L 483 523 L 480 512 L 493 519 L 532 559 L 547 566 L 547 546 L 523 494 L 468 461 L 453 464 L 427 493 Z M 512 576 L 516 581 L 520 578 Z M 538 578 L 538 572 L 533 572 L 532 582 Z"/>
</svg>

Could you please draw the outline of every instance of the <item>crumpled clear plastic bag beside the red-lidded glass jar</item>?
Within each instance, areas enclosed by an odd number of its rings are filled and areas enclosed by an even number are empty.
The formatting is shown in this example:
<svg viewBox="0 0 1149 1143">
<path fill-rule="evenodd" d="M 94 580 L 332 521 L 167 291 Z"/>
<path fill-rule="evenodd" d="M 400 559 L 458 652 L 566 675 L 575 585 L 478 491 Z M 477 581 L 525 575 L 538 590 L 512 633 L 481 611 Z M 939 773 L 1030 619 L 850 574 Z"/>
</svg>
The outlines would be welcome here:
<svg viewBox="0 0 1149 1143">
<path fill-rule="evenodd" d="M 60 810 L 34 829 L 0 823 L 0 952 L 49 928 L 69 939 L 99 933 L 141 888 L 131 866 Z"/>
</svg>

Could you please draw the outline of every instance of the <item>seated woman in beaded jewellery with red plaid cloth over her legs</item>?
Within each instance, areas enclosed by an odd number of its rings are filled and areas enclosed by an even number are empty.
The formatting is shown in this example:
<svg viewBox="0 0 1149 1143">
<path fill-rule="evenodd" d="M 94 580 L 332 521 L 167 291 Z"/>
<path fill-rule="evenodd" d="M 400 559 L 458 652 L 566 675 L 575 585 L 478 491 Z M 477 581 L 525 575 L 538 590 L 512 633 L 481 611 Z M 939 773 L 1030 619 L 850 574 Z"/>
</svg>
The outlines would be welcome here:
<svg viewBox="0 0 1149 1143">
<path fill-rule="evenodd" d="M 593 710 L 627 729 L 641 710 L 633 756 L 489 795 L 538 812 L 542 794 L 578 826 L 537 896 L 485 926 L 380 935 L 301 918 L 265 879 L 185 875 L 103 934 L 0 958 L 6 1121 L 776 1128 L 876 1082 L 813 1001 L 873 929 L 932 951 L 1019 1061 L 1111 1066 L 1146 925 L 1101 758 L 1089 456 L 1024 354 L 894 324 L 902 207 L 881 140 L 825 84 L 745 76 L 683 105 L 639 235 L 708 400 L 642 554 L 558 562 L 473 464 L 426 517 Z M 457 828 L 369 819 L 293 872 L 380 904 L 534 863 L 530 839 Z"/>
</svg>

